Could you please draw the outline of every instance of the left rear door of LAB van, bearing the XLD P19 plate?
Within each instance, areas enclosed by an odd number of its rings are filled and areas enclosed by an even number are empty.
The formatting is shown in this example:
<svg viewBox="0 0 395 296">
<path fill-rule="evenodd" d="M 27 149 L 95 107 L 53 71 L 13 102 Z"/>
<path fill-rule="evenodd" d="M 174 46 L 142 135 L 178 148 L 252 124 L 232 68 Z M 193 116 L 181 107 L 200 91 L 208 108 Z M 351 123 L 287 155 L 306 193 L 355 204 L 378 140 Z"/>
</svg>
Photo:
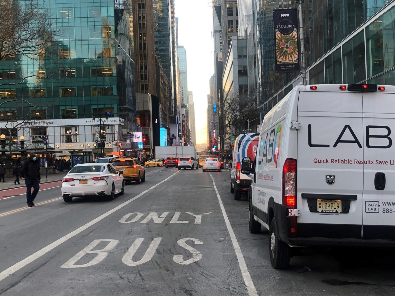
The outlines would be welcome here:
<svg viewBox="0 0 395 296">
<path fill-rule="evenodd" d="M 297 236 L 361 239 L 361 93 L 300 92 L 297 121 Z"/>
</svg>

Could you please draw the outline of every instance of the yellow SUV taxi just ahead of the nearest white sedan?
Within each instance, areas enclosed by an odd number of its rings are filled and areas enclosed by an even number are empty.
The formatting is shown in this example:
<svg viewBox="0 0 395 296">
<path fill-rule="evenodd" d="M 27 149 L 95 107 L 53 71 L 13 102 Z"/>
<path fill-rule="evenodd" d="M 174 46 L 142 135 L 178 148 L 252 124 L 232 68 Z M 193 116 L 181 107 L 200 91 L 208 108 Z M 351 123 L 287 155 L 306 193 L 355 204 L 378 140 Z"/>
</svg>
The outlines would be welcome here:
<svg viewBox="0 0 395 296">
<path fill-rule="evenodd" d="M 125 182 L 145 182 L 145 169 L 137 158 L 117 158 L 113 161 L 117 171 L 122 171 Z"/>
</svg>

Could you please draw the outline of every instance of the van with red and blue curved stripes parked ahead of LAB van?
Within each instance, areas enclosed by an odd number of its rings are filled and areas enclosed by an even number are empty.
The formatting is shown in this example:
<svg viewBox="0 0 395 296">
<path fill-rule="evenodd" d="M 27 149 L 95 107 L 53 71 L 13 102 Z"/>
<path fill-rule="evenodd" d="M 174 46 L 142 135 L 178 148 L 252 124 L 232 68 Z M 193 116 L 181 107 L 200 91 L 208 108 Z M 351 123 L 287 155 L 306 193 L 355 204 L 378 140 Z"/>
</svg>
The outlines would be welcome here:
<svg viewBox="0 0 395 296">
<path fill-rule="evenodd" d="M 232 169 L 230 172 L 230 193 L 234 193 L 235 200 L 240 200 L 242 192 L 248 192 L 252 174 L 240 174 L 241 160 L 244 157 L 255 159 L 258 147 L 259 133 L 241 134 L 235 140 L 233 148 Z"/>
</svg>

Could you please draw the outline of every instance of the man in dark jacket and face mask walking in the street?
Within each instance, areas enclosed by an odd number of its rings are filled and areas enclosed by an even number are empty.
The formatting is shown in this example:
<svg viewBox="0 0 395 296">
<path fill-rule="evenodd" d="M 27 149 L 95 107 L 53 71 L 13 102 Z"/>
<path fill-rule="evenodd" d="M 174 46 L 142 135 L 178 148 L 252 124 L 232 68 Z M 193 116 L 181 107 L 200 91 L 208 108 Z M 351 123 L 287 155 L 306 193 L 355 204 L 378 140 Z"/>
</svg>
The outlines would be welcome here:
<svg viewBox="0 0 395 296">
<path fill-rule="evenodd" d="M 40 190 L 40 163 L 37 160 L 36 155 L 30 154 L 29 159 L 27 159 L 22 166 L 21 175 L 25 179 L 26 184 L 26 200 L 27 206 L 30 208 L 34 206 L 33 200 L 36 198 L 38 191 Z M 33 187 L 33 193 L 32 193 Z"/>
</svg>

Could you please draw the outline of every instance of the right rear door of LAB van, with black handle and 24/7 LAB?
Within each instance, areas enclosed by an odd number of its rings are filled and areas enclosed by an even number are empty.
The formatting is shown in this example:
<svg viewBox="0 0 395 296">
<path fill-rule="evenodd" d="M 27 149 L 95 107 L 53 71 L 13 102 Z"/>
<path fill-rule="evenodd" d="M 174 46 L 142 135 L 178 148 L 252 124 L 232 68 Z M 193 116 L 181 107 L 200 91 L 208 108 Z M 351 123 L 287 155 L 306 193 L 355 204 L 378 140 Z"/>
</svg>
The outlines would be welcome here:
<svg viewBox="0 0 395 296">
<path fill-rule="evenodd" d="M 395 240 L 395 99 L 363 93 L 363 235 Z"/>
</svg>

